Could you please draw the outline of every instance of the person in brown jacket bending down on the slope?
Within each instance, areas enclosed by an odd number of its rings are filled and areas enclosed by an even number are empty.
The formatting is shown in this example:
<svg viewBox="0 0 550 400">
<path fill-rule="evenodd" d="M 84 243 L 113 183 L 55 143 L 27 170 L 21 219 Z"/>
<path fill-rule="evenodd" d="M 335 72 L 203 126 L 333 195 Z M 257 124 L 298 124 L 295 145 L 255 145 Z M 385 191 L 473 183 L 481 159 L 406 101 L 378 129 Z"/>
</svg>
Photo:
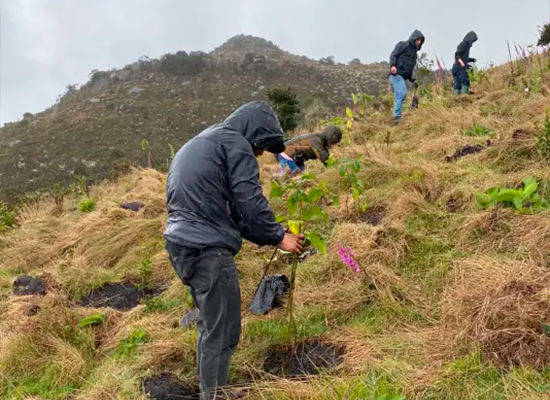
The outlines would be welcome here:
<svg viewBox="0 0 550 400">
<path fill-rule="evenodd" d="M 329 149 L 342 140 L 342 131 L 336 125 L 327 126 L 321 133 L 306 133 L 285 143 L 286 150 L 277 155 L 281 174 L 304 172 L 307 160 L 319 159 L 325 166 L 330 157 Z"/>
</svg>

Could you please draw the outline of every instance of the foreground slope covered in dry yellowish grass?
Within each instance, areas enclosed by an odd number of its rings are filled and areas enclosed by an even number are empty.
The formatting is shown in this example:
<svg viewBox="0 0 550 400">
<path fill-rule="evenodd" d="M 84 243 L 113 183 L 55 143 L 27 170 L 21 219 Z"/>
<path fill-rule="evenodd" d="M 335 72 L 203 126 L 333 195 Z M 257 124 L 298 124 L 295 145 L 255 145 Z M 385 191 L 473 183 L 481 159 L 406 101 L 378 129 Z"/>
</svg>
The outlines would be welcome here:
<svg viewBox="0 0 550 400">
<path fill-rule="evenodd" d="M 337 167 L 309 163 L 340 203 L 325 203 L 329 219 L 311 227 L 328 251 L 299 264 L 295 318 L 315 366 L 336 369 L 276 376 L 277 351 L 291 342 L 285 312 L 246 311 L 272 250 L 246 244 L 237 257 L 245 311 L 231 384 L 249 388 L 250 399 L 547 399 L 550 210 L 533 196 L 522 211 L 484 210 L 475 198 L 530 176 L 550 198 L 550 142 L 536 136 L 547 78 L 537 78 L 537 91 L 513 90 L 495 69 L 473 96 L 421 98 L 398 127 L 369 112 L 335 150 L 340 160 L 363 154 L 366 212 Z M 261 160 L 266 194 L 277 170 Z M 78 211 L 81 198 L 61 214 L 53 202 L 34 203 L 0 235 L 0 397 L 145 399 L 144 388 L 176 381 L 173 394 L 192 392 L 196 333 L 177 327 L 191 303 L 163 250 L 164 184 L 160 172 L 135 170 L 92 188 L 95 211 Z M 127 201 L 145 206 L 121 209 Z M 360 273 L 342 263 L 339 244 L 354 250 Z M 272 273 L 289 273 L 286 256 Z M 13 284 L 23 274 L 41 278 L 45 293 L 14 295 L 27 288 Z M 104 308 L 99 297 L 112 289 L 104 285 L 117 282 L 137 292 L 123 309 Z M 149 296 L 141 303 L 140 291 Z"/>
</svg>

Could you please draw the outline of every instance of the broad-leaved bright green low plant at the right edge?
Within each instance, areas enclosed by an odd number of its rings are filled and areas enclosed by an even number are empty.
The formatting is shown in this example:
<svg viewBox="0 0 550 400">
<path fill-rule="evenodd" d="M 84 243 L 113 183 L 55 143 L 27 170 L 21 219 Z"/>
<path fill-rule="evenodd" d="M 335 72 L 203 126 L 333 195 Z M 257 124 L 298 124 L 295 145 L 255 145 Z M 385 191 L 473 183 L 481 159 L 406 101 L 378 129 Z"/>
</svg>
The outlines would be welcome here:
<svg viewBox="0 0 550 400">
<path fill-rule="evenodd" d="M 539 185 L 535 178 L 525 179 L 522 186 L 520 189 L 497 186 L 488 189 L 485 193 L 476 193 L 477 203 L 485 209 L 502 205 L 520 212 L 540 211 L 548 208 L 548 201 L 537 193 Z"/>
</svg>

